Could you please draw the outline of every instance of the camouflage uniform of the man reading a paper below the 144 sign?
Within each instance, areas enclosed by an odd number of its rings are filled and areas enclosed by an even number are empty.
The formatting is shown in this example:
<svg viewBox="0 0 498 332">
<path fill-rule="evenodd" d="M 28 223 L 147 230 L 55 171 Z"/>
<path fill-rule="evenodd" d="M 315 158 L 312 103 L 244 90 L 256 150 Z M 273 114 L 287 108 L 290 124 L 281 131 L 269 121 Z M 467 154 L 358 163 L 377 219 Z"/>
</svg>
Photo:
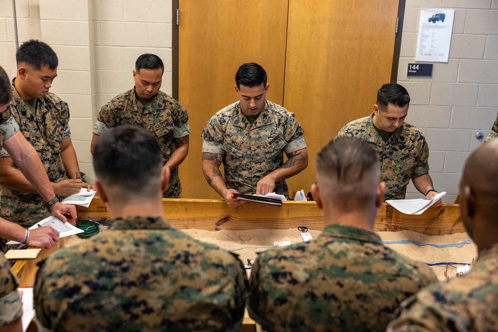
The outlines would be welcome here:
<svg viewBox="0 0 498 332">
<path fill-rule="evenodd" d="M 352 121 L 339 130 L 339 136 L 363 139 L 379 155 L 380 181 L 385 182 L 384 201 L 402 200 L 412 176 L 429 173 L 429 146 L 416 127 L 403 123 L 384 143 L 375 130 L 372 115 Z"/>
</svg>

